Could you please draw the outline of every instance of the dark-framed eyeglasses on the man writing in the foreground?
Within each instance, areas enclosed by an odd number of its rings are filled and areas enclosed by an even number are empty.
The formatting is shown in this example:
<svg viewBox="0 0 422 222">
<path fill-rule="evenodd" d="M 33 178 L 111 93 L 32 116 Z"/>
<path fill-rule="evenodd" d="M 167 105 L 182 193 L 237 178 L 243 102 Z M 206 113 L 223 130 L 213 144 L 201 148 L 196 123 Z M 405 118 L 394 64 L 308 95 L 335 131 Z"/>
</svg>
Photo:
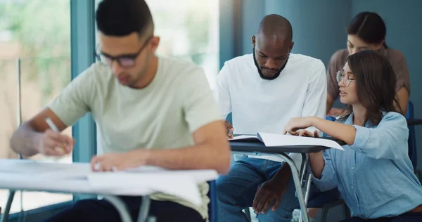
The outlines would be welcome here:
<svg viewBox="0 0 422 222">
<path fill-rule="evenodd" d="M 153 37 L 151 36 L 148 39 L 146 39 L 145 43 L 141 46 L 141 48 L 139 48 L 139 51 L 134 54 L 111 56 L 106 53 L 100 52 L 100 53 L 94 53 L 94 55 L 96 56 L 98 60 L 103 61 L 107 63 L 108 65 L 111 65 L 111 63 L 113 63 L 113 61 L 116 60 L 117 63 L 119 63 L 121 67 L 132 67 L 135 65 L 136 58 L 139 56 L 139 54 L 141 54 L 143 49 L 148 45 L 149 41 L 152 38 Z"/>
</svg>

